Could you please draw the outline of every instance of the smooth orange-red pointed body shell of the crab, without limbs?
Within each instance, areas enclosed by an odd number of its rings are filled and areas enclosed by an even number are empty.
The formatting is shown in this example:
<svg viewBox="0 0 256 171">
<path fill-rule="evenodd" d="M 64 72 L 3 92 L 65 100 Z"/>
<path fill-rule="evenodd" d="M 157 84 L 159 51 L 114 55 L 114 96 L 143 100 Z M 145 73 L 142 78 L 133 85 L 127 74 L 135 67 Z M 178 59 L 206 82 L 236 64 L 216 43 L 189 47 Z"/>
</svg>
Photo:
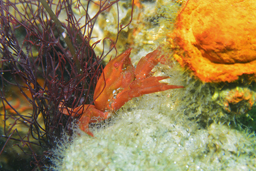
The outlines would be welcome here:
<svg viewBox="0 0 256 171">
<path fill-rule="evenodd" d="M 117 110 L 117 108 L 119 109 L 122 106 L 115 107 L 114 99 L 117 94 L 127 88 L 135 78 L 134 67 L 129 58 L 130 53 L 131 48 L 112 59 L 105 66 L 100 75 L 93 97 L 95 99 L 94 105 L 100 111 Z M 116 103 L 117 102 L 118 101 L 116 101 Z M 121 101 L 119 101 L 119 103 L 121 103 Z"/>
</svg>

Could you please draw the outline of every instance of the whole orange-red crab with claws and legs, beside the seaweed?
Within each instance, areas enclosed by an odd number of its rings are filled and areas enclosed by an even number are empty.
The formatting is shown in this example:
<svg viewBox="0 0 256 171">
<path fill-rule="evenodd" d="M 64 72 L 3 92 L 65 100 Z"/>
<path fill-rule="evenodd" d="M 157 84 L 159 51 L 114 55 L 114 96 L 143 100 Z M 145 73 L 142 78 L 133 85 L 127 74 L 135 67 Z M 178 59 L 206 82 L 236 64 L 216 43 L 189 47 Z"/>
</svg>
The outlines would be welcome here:
<svg viewBox="0 0 256 171">
<path fill-rule="evenodd" d="M 136 69 L 132 66 L 131 48 L 112 59 L 104 68 L 96 84 L 93 96 L 94 105 L 81 105 L 75 109 L 64 107 L 60 103 L 59 110 L 65 115 L 80 117 L 80 129 L 93 136 L 89 124 L 105 120 L 113 111 L 120 109 L 133 97 L 155 93 L 168 89 L 183 88 L 180 85 L 167 85 L 159 82 L 168 77 L 152 77 L 151 70 L 159 62 L 160 51 L 155 50 L 141 58 Z"/>
</svg>

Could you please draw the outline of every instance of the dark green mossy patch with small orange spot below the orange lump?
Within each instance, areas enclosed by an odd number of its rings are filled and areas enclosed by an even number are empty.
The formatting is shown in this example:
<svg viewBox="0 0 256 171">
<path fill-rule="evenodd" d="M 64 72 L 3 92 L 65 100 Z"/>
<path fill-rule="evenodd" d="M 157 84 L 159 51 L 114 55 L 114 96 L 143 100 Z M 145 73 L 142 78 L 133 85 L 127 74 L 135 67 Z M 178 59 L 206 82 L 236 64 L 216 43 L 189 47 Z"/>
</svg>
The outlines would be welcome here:
<svg viewBox="0 0 256 171">
<path fill-rule="evenodd" d="M 231 124 L 255 131 L 256 90 L 245 82 L 204 83 L 190 72 L 175 66 L 182 74 L 183 96 L 179 96 L 179 113 L 184 113 L 204 128 L 213 122 Z M 245 126 L 246 125 L 246 126 Z"/>
</svg>

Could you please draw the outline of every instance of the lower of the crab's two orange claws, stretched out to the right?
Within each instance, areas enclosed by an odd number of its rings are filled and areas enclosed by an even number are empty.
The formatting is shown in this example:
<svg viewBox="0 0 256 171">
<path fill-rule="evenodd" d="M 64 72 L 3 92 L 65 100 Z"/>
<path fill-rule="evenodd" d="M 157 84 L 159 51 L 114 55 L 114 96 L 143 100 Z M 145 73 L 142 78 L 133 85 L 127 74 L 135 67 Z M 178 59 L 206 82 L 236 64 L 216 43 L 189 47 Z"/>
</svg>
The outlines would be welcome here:
<svg viewBox="0 0 256 171">
<path fill-rule="evenodd" d="M 159 82 L 160 80 L 168 77 L 148 77 L 144 80 L 134 80 L 129 88 L 124 89 L 121 93 L 117 94 L 115 101 L 111 104 L 112 108 L 120 109 L 127 101 L 133 97 L 140 97 L 143 94 L 156 93 L 168 89 L 184 88 L 181 85 L 168 85 L 167 83 Z"/>
</svg>

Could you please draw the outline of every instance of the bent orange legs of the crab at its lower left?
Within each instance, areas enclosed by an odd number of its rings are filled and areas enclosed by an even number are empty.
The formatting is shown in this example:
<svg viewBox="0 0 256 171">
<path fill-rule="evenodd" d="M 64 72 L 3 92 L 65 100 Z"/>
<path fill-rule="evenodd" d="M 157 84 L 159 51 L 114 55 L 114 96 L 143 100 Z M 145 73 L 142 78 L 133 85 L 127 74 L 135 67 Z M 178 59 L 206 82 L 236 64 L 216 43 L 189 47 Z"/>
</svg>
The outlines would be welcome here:
<svg viewBox="0 0 256 171">
<path fill-rule="evenodd" d="M 90 136 L 93 136 L 92 132 L 89 130 L 90 123 L 101 122 L 102 120 L 106 120 L 110 117 L 110 113 L 101 112 L 96 109 L 94 105 L 81 105 L 72 110 L 71 108 L 64 107 L 64 105 L 60 103 L 59 110 L 65 115 L 71 114 L 72 117 L 78 117 L 81 115 L 78 121 L 79 128 Z"/>
</svg>

